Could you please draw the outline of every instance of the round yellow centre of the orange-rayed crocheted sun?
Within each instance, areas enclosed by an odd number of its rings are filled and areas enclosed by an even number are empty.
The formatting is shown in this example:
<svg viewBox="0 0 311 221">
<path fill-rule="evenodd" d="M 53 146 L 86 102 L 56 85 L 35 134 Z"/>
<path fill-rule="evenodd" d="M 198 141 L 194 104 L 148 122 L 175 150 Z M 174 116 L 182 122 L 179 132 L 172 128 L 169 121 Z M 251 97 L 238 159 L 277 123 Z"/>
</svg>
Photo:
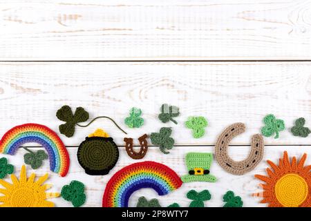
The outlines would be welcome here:
<svg viewBox="0 0 311 221">
<path fill-rule="evenodd" d="M 297 207 L 308 197 L 308 184 L 303 177 L 290 173 L 275 185 L 276 199 L 285 207 Z"/>
</svg>

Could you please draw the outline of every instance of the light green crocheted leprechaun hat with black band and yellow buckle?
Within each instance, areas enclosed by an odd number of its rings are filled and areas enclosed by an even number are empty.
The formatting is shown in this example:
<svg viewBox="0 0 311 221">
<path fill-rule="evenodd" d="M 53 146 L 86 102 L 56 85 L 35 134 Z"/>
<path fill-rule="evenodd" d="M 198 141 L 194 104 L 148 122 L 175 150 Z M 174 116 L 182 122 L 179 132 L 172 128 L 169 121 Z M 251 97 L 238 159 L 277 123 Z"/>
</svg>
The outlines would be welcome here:
<svg viewBox="0 0 311 221">
<path fill-rule="evenodd" d="M 187 153 L 186 164 L 189 174 L 181 177 L 182 182 L 216 182 L 216 177 L 209 174 L 212 161 L 211 153 Z"/>
</svg>

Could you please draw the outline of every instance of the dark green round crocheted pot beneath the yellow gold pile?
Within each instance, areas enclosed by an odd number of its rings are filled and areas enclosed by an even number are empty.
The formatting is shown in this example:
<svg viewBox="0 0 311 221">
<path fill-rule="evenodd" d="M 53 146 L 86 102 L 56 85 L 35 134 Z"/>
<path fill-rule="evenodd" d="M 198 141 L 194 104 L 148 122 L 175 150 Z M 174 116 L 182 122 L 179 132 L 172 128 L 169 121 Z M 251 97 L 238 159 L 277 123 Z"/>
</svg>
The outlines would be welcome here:
<svg viewBox="0 0 311 221">
<path fill-rule="evenodd" d="M 111 137 L 86 137 L 77 158 L 88 175 L 106 175 L 117 164 L 119 149 Z"/>
</svg>

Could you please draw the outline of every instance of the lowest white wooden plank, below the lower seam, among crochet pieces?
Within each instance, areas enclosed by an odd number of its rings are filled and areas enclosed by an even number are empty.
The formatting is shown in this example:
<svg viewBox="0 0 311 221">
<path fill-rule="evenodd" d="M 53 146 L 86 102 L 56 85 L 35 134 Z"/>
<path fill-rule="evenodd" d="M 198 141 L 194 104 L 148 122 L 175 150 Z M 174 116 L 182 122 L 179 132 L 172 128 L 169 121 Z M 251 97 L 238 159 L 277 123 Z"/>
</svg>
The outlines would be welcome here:
<svg viewBox="0 0 311 221">
<path fill-rule="evenodd" d="M 37 148 L 33 148 L 36 150 Z M 185 175 L 187 173 L 187 168 L 185 166 L 184 157 L 188 152 L 207 152 L 213 153 L 213 147 L 195 147 L 195 146 L 187 146 L 187 147 L 178 147 L 171 150 L 169 155 L 162 154 L 158 148 L 150 148 L 146 157 L 143 160 L 132 160 L 128 155 L 126 155 L 126 151 L 124 148 L 120 148 L 120 159 L 117 162 L 115 168 L 109 173 L 109 175 L 105 176 L 90 176 L 84 173 L 84 170 L 81 166 L 79 166 L 77 162 L 77 148 L 68 148 L 71 160 L 70 171 L 66 177 L 59 177 L 59 175 L 55 173 L 50 173 L 50 179 L 47 183 L 53 184 L 53 189 L 51 191 L 61 191 L 62 186 L 70 183 L 71 180 L 79 180 L 84 182 L 86 185 L 86 194 L 87 201 L 84 206 L 102 206 L 102 195 L 104 193 L 104 189 L 106 183 L 109 181 L 111 176 L 122 169 L 124 166 L 132 164 L 134 162 L 141 162 L 144 160 L 152 160 L 156 162 L 160 162 L 162 164 L 166 164 L 171 169 L 176 171 L 178 175 Z M 162 206 L 168 206 L 173 202 L 178 202 L 181 206 L 189 206 L 189 200 L 185 197 L 187 191 L 191 189 L 195 189 L 196 191 L 202 191 L 204 189 L 208 189 L 211 193 L 211 200 L 206 203 L 206 206 L 212 207 L 220 207 L 223 206 L 222 198 L 223 195 L 229 191 L 234 191 L 237 195 L 240 195 L 243 199 L 244 206 L 266 206 L 266 204 L 260 204 L 260 198 L 253 198 L 252 193 L 260 192 L 261 189 L 258 187 L 260 184 L 259 180 L 254 178 L 254 174 L 265 175 L 265 168 L 268 167 L 268 164 L 265 160 L 272 160 L 273 162 L 278 162 L 280 157 L 283 157 L 283 151 L 288 151 L 290 156 L 301 157 L 303 153 L 308 153 L 310 155 L 310 147 L 308 146 L 291 146 L 291 147 L 274 147 L 274 146 L 266 146 L 265 153 L 263 156 L 263 161 L 258 164 L 258 166 L 249 173 L 245 175 L 232 175 L 230 173 L 225 172 L 216 161 L 211 165 L 211 174 L 215 175 L 218 178 L 218 182 L 209 183 L 209 182 L 192 182 L 187 184 L 182 184 L 180 189 L 173 191 L 169 195 L 158 196 L 155 191 L 151 189 L 142 189 L 133 194 L 130 200 L 130 206 L 135 206 L 137 200 L 140 196 L 144 195 L 147 198 L 158 198 Z M 17 151 L 17 154 L 14 156 L 10 155 L 1 155 L 1 157 L 8 157 L 9 162 L 14 164 L 16 167 L 15 174 L 19 175 L 20 167 L 23 164 L 23 154 L 25 151 L 23 149 Z M 249 148 L 246 146 L 232 146 L 229 148 L 229 155 L 232 156 L 234 160 L 243 160 L 247 157 L 249 153 Z M 306 165 L 310 164 L 310 156 L 306 161 Z M 32 169 L 28 166 L 28 175 L 30 175 Z M 37 175 L 44 175 L 47 171 L 49 171 L 48 161 L 44 162 L 44 166 L 36 171 L 32 171 L 37 173 Z M 7 181 L 10 181 L 9 178 L 6 178 Z M 70 202 L 66 202 L 62 198 L 57 198 L 53 200 L 56 206 L 71 206 Z"/>
</svg>

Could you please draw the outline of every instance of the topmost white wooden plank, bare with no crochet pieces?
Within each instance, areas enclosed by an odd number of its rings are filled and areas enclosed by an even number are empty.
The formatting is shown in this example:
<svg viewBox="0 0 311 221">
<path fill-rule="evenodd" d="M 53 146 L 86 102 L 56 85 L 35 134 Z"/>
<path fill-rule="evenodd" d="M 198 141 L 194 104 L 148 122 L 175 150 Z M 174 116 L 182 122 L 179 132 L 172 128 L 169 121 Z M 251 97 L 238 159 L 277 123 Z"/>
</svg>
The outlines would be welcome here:
<svg viewBox="0 0 311 221">
<path fill-rule="evenodd" d="M 2 0 L 0 60 L 310 59 L 310 7 L 308 0 Z"/>
</svg>

